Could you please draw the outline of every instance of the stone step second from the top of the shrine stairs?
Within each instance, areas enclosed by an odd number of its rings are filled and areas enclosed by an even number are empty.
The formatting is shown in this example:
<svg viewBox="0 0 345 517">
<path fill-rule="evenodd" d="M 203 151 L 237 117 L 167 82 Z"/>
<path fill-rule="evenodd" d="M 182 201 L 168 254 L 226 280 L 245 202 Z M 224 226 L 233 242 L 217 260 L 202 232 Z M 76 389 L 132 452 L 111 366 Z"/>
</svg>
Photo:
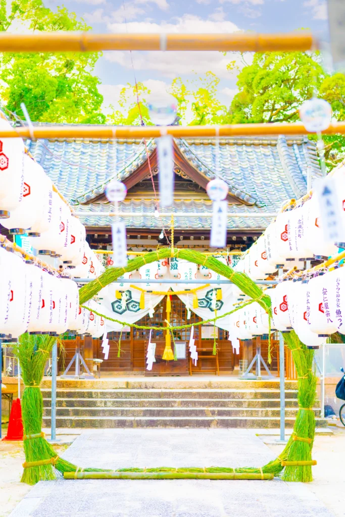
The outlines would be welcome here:
<svg viewBox="0 0 345 517">
<path fill-rule="evenodd" d="M 51 396 L 51 390 L 41 388 L 44 398 Z M 56 390 L 57 398 L 62 399 L 277 399 L 279 387 L 276 389 L 61 389 Z M 297 391 L 286 389 L 285 397 L 297 397 Z"/>
</svg>

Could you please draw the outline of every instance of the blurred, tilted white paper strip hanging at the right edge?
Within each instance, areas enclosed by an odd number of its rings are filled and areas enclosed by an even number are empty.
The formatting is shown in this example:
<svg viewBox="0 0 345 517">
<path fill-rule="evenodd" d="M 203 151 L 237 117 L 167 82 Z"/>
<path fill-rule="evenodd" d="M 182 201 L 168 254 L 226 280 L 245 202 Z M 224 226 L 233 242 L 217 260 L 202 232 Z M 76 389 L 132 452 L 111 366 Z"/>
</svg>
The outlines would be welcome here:
<svg viewBox="0 0 345 517">
<path fill-rule="evenodd" d="M 320 219 L 326 242 L 343 242 L 342 206 L 339 202 L 335 181 L 327 176 L 315 186 L 320 206 Z"/>
</svg>

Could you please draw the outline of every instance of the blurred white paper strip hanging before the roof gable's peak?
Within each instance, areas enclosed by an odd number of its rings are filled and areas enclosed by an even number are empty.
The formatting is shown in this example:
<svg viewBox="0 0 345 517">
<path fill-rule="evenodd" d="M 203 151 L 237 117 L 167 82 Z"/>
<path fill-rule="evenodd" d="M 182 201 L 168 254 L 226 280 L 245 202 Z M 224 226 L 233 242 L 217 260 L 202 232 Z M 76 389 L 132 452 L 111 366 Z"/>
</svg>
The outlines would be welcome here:
<svg viewBox="0 0 345 517">
<path fill-rule="evenodd" d="M 161 136 L 156 140 L 158 154 L 159 199 L 162 207 L 174 202 L 174 159 L 172 136 Z"/>
</svg>

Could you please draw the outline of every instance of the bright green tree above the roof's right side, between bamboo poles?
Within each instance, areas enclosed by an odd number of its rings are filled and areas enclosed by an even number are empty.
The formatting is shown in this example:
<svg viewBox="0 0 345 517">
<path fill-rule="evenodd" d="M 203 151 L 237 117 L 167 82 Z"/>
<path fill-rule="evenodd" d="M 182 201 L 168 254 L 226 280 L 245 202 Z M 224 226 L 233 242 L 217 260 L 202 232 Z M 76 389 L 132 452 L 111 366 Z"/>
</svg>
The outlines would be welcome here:
<svg viewBox="0 0 345 517">
<path fill-rule="evenodd" d="M 298 109 L 319 90 L 325 72 L 317 54 L 256 53 L 238 74 L 231 102 L 233 123 L 294 122 Z"/>
</svg>

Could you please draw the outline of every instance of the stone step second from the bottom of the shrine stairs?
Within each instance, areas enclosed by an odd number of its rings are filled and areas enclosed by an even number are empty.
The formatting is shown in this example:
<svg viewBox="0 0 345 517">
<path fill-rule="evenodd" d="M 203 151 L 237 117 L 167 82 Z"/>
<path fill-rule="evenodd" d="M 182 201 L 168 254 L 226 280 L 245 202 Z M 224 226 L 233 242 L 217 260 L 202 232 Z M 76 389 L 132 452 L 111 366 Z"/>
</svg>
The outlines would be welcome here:
<svg viewBox="0 0 345 517">
<path fill-rule="evenodd" d="M 44 409 L 44 415 L 50 416 L 50 408 Z M 286 409 L 286 417 L 296 417 L 298 407 Z M 314 414 L 320 416 L 320 409 L 314 409 Z M 279 408 L 243 408 L 243 407 L 58 407 L 57 417 L 279 417 Z"/>
</svg>

